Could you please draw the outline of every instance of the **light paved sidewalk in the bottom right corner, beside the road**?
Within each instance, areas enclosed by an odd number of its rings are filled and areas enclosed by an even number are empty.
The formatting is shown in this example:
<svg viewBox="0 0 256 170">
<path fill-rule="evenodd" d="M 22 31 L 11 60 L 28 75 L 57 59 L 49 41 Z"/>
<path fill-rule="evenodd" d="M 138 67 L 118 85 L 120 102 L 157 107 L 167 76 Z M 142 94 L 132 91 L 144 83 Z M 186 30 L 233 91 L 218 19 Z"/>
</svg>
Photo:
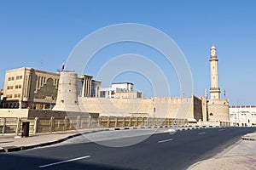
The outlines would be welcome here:
<svg viewBox="0 0 256 170">
<path fill-rule="evenodd" d="M 222 152 L 212 159 L 199 161 L 190 166 L 189 170 L 215 169 L 256 169 L 256 132 L 248 133 L 227 152 Z"/>
</svg>

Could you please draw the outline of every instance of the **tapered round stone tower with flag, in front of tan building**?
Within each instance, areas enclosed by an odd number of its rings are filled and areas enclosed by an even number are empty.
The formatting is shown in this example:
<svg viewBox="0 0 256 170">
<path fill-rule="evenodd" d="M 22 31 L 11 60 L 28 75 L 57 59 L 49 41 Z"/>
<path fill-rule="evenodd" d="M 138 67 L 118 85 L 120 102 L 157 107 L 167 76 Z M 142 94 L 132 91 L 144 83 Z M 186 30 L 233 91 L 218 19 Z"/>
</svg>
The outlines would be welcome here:
<svg viewBox="0 0 256 170">
<path fill-rule="evenodd" d="M 54 111 L 80 112 L 78 99 L 78 75 L 71 71 L 61 71 L 58 96 Z"/>
</svg>

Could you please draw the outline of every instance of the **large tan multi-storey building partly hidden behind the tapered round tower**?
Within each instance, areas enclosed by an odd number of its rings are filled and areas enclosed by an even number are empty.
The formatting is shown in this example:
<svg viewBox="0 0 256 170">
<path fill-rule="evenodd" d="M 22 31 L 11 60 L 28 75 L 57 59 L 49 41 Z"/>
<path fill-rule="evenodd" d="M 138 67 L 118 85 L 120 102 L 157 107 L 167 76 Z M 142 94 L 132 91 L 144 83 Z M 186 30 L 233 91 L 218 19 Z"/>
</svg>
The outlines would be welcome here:
<svg viewBox="0 0 256 170">
<path fill-rule="evenodd" d="M 58 93 L 60 73 L 19 68 L 5 73 L 3 108 L 52 109 Z M 87 75 L 78 78 L 79 96 L 99 97 L 101 82 Z"/>
</svg>

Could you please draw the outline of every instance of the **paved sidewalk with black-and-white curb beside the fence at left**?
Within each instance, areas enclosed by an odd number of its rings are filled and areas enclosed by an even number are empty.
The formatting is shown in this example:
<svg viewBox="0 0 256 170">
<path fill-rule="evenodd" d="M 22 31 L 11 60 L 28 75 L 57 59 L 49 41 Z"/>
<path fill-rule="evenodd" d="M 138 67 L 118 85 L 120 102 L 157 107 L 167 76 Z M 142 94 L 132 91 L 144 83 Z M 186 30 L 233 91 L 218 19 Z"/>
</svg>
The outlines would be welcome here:
<svg viewBox="0 0 256 170">
<path fill-rule="evenodd" d="M 0 136 L 0 152 L 27 150 L 49 144 L 57 144 L 84 133 L 95 133 L 106 130 L 109 129 L 90 128 L 67 132 L 37 133 L 35 135 L 32 134 L 27 138 L 20 138 L 20 136 L 15 137 L 15 134 L 5 134 Z"/>
</svg>

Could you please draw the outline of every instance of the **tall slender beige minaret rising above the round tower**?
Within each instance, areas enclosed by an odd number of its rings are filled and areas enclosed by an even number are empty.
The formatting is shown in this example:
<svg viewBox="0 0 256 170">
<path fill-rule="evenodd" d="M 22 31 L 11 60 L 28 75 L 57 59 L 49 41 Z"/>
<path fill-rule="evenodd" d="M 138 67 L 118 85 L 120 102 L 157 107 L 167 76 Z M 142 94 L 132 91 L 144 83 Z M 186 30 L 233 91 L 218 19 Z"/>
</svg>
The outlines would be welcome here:
<svg viewBox="0 0 256 170">
<path fill-rule="evenodd" d="M 209 60 L 211 66 L 211 99 L 219 99 L 220 89 L 218 88 L 218 58 L 216 55 L 216 48 L 213 45 L 211 48 L 211 57 Z"/>
</svg>

